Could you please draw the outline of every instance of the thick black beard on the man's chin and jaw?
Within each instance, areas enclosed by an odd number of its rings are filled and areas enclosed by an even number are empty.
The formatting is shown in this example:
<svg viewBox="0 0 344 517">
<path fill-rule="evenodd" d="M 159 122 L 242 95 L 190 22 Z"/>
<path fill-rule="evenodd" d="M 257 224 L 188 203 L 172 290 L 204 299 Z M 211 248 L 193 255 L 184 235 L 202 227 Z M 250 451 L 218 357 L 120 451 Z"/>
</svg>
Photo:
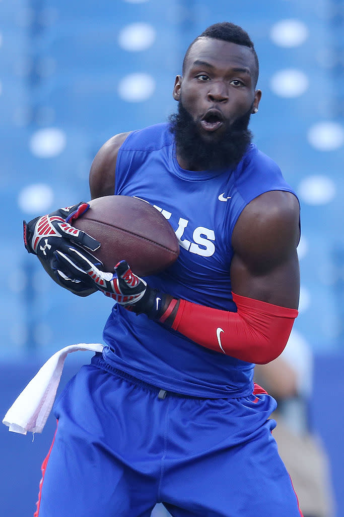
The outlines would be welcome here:
<svg viewBox="0 0 344 517">
<path fill-rule="evenodd" d="M 247 150 L 253 135 L 248 129 L 252 107 L 213 142 L 206 141 L 182 101 L 177 113 L 169 117 L 177 153 L 188 163 L 189 170 L 234 169 Z"/>
</svg>

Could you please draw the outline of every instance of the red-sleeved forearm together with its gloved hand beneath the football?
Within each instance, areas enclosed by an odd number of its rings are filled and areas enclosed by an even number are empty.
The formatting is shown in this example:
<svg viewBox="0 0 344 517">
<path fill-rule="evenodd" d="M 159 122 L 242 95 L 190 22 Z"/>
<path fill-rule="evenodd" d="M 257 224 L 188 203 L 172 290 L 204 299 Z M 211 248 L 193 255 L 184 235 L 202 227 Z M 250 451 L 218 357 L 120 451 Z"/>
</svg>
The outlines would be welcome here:
<svg viewBox="0 0 344 517">
<path fill-rule="evenodd" d="M 289 309 L 233 293 L 237 312 L 222 311 L 173 298 L 150 288 L 125 261 L 103 273 L 74 251 L 75 267 L 128 310 L 172 327 L 195 343 L 247 362 L 264 364 L 278 357 L 298 315 Z"/>
</svg>

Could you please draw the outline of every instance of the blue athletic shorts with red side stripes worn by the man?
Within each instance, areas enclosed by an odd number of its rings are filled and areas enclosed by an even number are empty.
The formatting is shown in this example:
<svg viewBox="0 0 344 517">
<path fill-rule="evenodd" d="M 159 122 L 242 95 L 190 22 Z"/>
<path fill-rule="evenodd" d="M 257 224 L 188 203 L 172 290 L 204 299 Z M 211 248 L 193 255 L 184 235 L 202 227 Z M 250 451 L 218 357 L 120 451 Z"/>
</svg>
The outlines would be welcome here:
<svg viewBox="0 0 344 517">
<path fill-rule="evenodd" d="M 97 355 L 55 403 L 39 517 L 300 517 L 268 394 L 199 399 L 111 370 Z"/>
</svg>

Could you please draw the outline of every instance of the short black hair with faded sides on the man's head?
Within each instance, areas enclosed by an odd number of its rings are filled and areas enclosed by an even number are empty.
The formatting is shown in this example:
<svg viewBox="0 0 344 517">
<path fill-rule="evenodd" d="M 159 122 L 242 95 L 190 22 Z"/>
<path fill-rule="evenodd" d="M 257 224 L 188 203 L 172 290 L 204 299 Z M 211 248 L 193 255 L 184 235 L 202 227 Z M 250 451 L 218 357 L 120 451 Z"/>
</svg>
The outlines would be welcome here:
<svg viewBox="0 0 344 517">
<path fill-rule="evenodd" d="M 214 23 L 214 25 L 210 25 L 208 28 L 203 31 L 202 34 L 197 36 L 189 45 L 185 56 L 183 60 L 183 73 L 185 70 L 185 64 L 186 60 L 189 56 L 190 49 L 199 38 L 214 38 L 214 39 L 221 39 L 223 41 L 230 41 L 231 43 L 236 43 L 237 45 L 243 45 L 244 47 L 249 47 L 252 50 L 256 69 L 254 70 L 254 81 L 255 85 L 258 81 L 258 74 L 259 74 L 259 62 L 258 62 L 258 56 L 256 54 L 256 51 L 254 49 L 254 44 L 248 35 L 246 31 L 244 31 L 243 28 L 241 28 L 239 25 L 235 25 L 234 23 L 230 22 L 221 22 L 221 23 Z"/>
</svg>

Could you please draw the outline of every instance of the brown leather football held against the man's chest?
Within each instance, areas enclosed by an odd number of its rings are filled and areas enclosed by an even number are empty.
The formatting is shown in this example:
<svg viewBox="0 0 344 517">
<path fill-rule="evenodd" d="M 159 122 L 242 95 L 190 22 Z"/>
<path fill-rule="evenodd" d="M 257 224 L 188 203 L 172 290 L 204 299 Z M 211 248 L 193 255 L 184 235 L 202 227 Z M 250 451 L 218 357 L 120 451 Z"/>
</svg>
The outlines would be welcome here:
<svg viewBox="0 0 344 517">
<path fill-rule="evenodd" d="M 139 276 L 149 276 L 171 266 L 178 258 L 179 243 L 168 220 L 149 203 L 135 197 L 109 195 L 89 201 L 90 208 L 73 221 L 99 240 L 92 252 L 113 271 L 126 260 Z"/>
</svg>

